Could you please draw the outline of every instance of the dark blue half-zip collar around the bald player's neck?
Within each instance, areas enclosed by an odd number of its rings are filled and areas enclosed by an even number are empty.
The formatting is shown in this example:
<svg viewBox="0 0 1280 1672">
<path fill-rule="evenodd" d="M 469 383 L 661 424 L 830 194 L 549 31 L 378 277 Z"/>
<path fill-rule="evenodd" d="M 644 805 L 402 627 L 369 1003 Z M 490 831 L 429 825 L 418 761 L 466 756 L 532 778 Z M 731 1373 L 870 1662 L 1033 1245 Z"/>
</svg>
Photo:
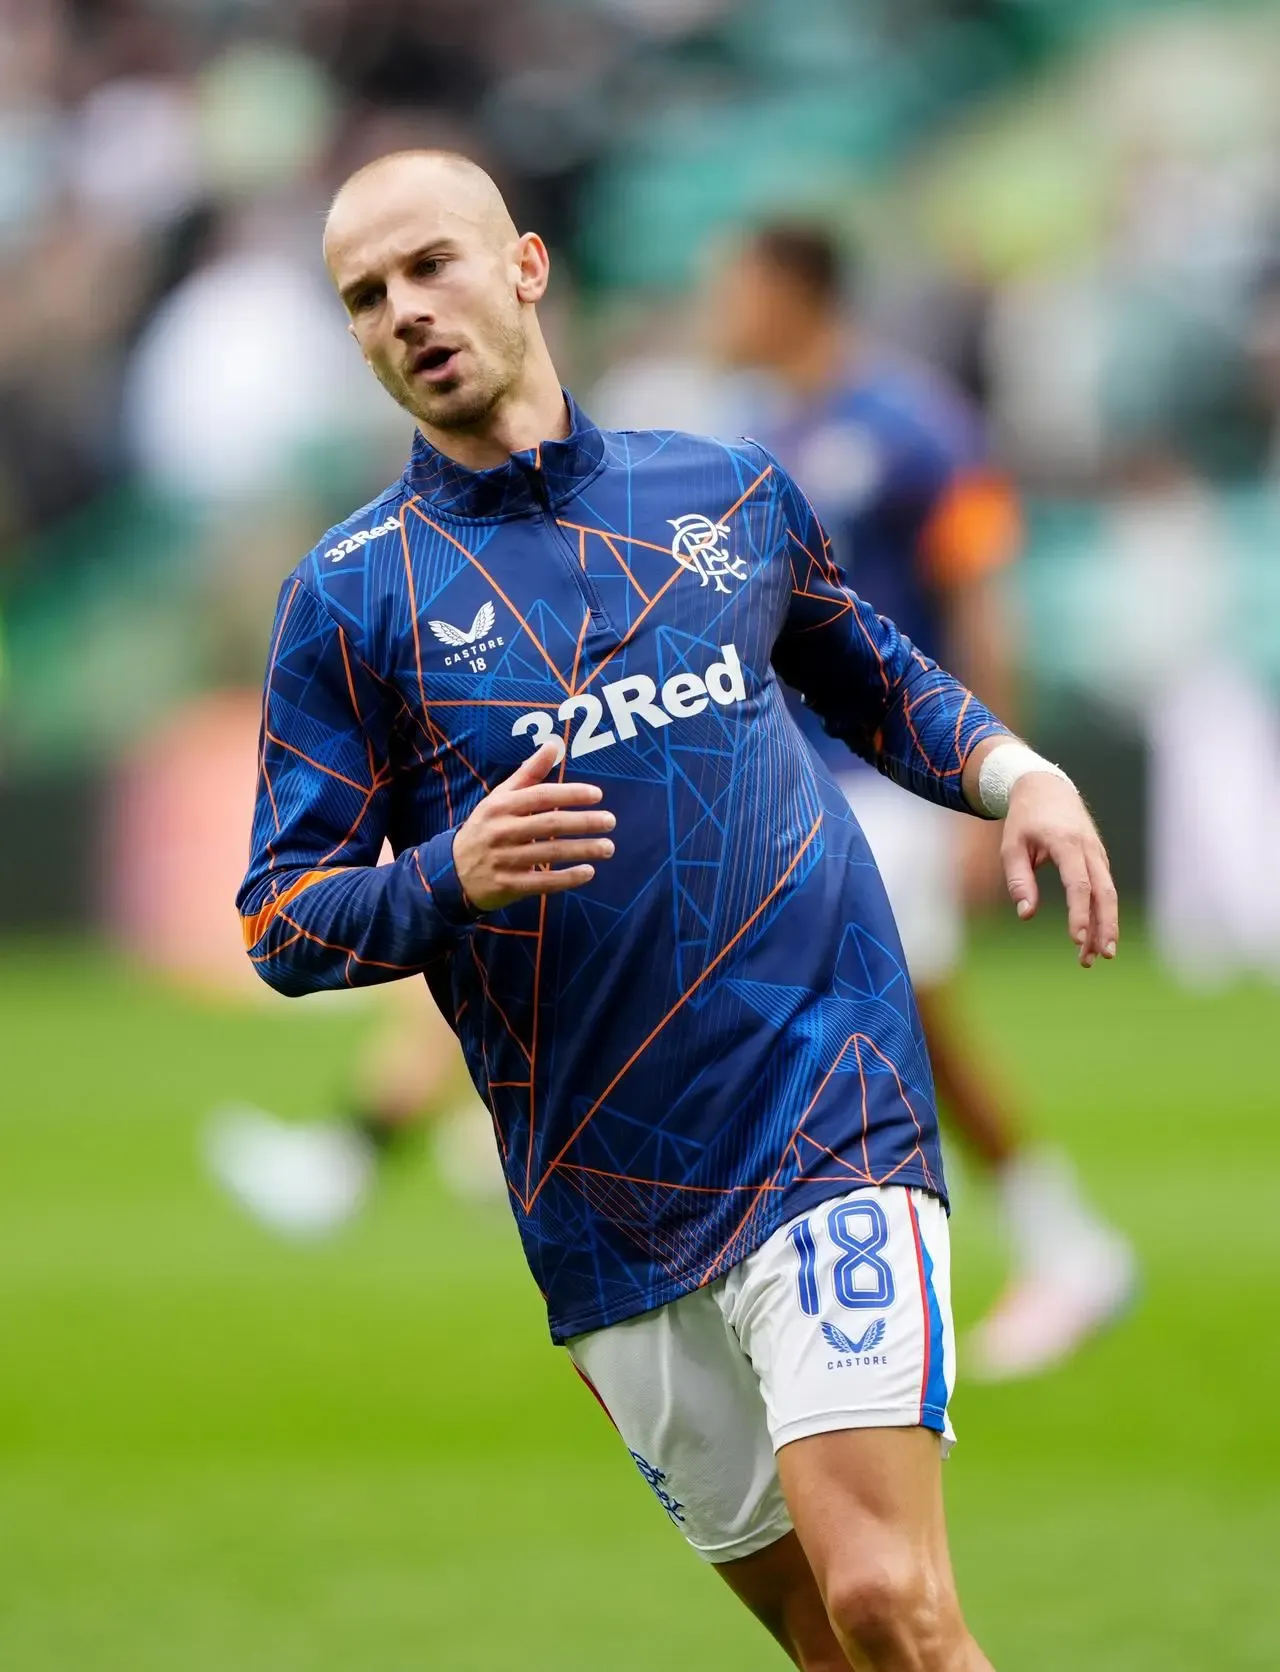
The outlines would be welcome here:
<svg viewBox="0 0 1280 1672">
<path fill-rule="evenodd" d="M 565 405 L 570 431 L 563 441 L 523 448 L 491 470 L 468 470 L 416 430 L 404 470 L 406 487 L 451 517 L 493 522 L 560 510 L 605 465 L 605 438 L 568 390 Z"/>
</svg>

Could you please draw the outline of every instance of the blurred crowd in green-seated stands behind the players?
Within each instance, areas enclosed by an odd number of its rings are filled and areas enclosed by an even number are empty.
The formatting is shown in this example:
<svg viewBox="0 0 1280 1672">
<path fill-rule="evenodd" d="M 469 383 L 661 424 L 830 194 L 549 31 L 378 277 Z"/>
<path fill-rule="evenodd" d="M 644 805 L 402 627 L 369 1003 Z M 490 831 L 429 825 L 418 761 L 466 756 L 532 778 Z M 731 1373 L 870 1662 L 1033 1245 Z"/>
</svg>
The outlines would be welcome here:
<svg viewBox="0 0 1280 1672">
<path fill-rule="evenodd" d="M 1173 589 L 1135 585 L 1156 548 L 1280 686 L 1277 112 L 1280 7 L 1232 0 L 810 0 L 802 28 L 789 0 L 0 0 L 12 769 L 242 677 L 251 595 L 398 468 L 319 227 L 424 144 L 550 237 L 602 421 L 735 428 L 688 348 L 698 263 L 777 211 L 856 229 L 872 324 L 984 405 L 1031 493 L 1038 714 L 1069 732 L 1088 692 L 1146 732 L 1181 642 Z M 1138 490 L 1156 433 L 1178 480 Z M 190 619 L 179 667 L 159 624 Z"/>
</svg>

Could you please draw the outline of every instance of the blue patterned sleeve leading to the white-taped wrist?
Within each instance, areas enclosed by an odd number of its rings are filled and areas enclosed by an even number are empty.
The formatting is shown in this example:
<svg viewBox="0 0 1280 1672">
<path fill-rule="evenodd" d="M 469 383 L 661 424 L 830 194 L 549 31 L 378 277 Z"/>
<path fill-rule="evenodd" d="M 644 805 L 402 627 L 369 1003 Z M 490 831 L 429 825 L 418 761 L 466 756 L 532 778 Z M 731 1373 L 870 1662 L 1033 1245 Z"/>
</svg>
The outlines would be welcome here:
<svg viewBox="0 0 1280 1672">
<path fill-rule="evenodd" d="M 765 455 L 769 456 L 769 455 Z M 974 809 L 961 774 L 974 744 L 1008 727 L 846 584 L 812 507 L 774 461 L 790 604 L 774 667 L 824 727 L 904 789 Z"/>
</svg>

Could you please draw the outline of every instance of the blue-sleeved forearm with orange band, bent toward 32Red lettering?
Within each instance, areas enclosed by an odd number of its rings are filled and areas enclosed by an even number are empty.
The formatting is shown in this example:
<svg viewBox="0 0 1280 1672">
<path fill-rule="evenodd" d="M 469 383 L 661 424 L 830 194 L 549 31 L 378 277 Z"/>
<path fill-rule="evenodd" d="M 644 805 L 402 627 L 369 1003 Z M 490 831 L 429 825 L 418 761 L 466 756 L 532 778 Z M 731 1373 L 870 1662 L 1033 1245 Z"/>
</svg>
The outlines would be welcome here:
<svg viewBox="0 0 1280 1672">
<path fill-rule="evenodd" d="M 254 968 L 291 998 L 421 973 L 473 916 L 451 848 L 444 831 L 391 864 L 251 866 L 237 905 Z"/>
</svg>

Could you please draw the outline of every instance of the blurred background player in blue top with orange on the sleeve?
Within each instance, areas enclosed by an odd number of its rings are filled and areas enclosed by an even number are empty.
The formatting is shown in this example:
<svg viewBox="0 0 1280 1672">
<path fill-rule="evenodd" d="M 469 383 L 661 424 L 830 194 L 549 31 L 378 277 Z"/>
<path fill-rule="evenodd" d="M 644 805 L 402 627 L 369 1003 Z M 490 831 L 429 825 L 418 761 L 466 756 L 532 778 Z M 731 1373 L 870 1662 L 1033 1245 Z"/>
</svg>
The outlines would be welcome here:
<svg viewBox="0 0 1280 1672">
<path fill-rule="evenodd" d="M 717 359 L 769 375 L 777 406 L 755 430 L 812 500 L 857 592 L 1016 717 L 1018 630 L 1004 584 L 1021 542 L 1016 492 L 986 453 L 978 413 L 932 370 L 876 346 L 852 289 L 842 246 L 822 224 L 754 229 L 709 281 Z M 1125 1309 L 1135 1261 L 1068 1159 L 1028 1137 L 952 990 L 966 908 L 999 888 L 999 836 L 904 794 L 827 736 L 794 692 L 790 704 L 876 854 L 941 1109 L 999 1202 L 1013 1274 L 969 1339 L 968 1369 L 989 1379 L 1046 1369 Z"/>
</svg>

